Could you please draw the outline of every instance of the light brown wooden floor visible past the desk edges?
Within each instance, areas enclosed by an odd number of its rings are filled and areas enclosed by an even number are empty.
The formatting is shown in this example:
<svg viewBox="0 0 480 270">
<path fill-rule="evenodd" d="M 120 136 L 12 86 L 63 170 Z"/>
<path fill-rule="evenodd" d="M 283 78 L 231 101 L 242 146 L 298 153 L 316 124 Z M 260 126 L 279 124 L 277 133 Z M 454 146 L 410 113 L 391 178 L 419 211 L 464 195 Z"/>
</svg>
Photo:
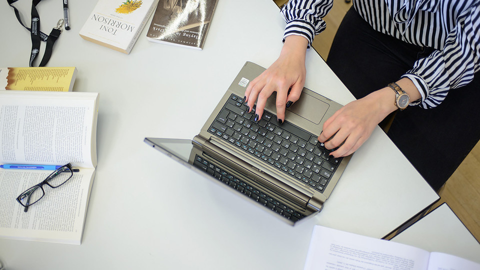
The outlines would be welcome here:
<svg viewBox="0 0 480 270">
<path fill-rule="evenodd" d="M 279 6 L 286 0 L 274 0 Z M 323 19 L 326 29 L 313 40 L 313 48 L 323 59 L 328 56 L 331 41 L 351 3 L 333 0 L 333 7 Z M 440 201 L 446 202 L 475 238 L 480 241 L 480 142 L 463 160 L 440 191 Z"/>
</svg>

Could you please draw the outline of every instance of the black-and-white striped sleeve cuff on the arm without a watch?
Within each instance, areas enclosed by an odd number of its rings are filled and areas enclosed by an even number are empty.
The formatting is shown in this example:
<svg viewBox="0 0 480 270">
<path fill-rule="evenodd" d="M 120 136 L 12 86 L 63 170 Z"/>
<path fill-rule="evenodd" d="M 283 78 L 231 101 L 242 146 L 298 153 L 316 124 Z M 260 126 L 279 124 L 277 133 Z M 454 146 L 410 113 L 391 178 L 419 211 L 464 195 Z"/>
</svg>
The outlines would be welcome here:
<svg viewBox="0 0 480 270">
<path fill-rule="evenodd" d="M 290 0 L 280 11 L 286 21 L 283 41 L 288 35 L 301 35 L 310 47 L 313 37 L 325 29 L 322 18 L 332 5 L 333 0 Z"/>
</svg>

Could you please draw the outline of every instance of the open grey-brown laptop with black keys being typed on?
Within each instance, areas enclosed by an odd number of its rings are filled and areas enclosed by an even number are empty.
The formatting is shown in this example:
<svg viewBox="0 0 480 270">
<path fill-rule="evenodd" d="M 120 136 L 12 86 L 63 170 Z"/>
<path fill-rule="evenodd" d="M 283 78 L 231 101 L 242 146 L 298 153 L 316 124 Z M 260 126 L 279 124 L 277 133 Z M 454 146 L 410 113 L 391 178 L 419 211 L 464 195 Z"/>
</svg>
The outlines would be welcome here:
<svg viewBox="0 0 480 270">
<path fill-rule="evenodd" d="M 321 210 L 350 159 L 333 158 L 317 141 L 323 122 L 341 105 L 303 88 L 282 124 L 275 115 L 275 94 L 261 119 L 254 121 L 254 110 L 246 112 L 243 96 L 263 70 L 246 62 L 192 139 L 144 141 L 295 224 Z"/>
</svg>

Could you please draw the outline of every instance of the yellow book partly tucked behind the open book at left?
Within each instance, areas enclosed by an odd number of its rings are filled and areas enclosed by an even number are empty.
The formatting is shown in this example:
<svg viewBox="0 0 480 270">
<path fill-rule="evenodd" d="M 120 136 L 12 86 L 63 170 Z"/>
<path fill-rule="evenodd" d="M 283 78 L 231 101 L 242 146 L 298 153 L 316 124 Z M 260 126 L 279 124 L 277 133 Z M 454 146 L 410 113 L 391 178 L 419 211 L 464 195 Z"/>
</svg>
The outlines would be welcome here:
<svg viewBox="0 0 480 270">
<path fill-rule="evenodd" d="M 71 91 L 76 67 L 0 67 L 0 89 Z"/>
</svg>

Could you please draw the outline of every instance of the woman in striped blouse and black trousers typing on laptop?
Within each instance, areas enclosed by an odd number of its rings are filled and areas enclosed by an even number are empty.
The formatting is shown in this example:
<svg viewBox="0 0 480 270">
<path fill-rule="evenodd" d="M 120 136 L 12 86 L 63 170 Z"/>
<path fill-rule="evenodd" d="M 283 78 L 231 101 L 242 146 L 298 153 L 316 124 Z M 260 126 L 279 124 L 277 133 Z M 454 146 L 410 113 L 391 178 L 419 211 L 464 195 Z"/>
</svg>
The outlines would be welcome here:
<svg viewBox="0 0 480 270">
<path fill-rule="evenodd" d="M 305 52 L 331 5 L 291 0 L 282 8 L 280 55 L 245 91 L 259 118 L 273 91 L 279 122 L 299 98 Z M 479 17 L 479 0 L 354 0 L 327 64 L 358 99 L 325 121 L 318 140 L 338 147 L 335 157 L 349 155 L 395 112 L 388 136 L 438 190 L 480 138 Z"/>
</svg>

